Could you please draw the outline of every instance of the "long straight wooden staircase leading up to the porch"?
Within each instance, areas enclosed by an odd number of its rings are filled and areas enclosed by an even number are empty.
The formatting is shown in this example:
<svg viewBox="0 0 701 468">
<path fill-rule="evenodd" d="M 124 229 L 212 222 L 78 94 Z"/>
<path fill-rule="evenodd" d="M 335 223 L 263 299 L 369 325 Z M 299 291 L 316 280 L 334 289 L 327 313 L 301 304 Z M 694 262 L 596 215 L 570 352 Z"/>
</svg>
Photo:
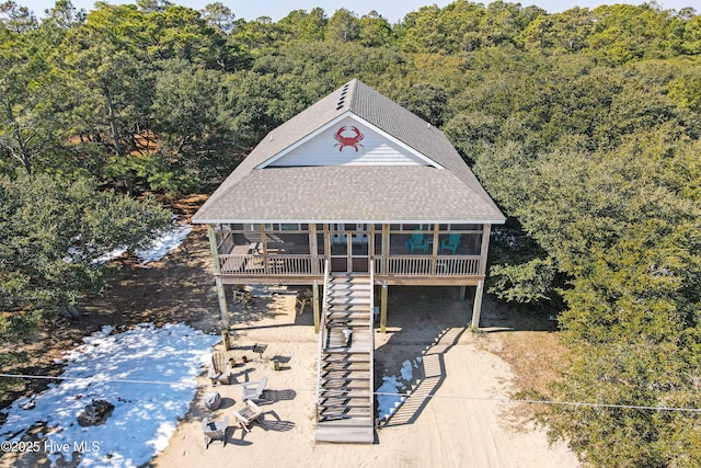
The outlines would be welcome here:
<svg viewBox="0 0 701 468">
<path fill-rule="evenodd" d="M 317 441 L 375 441 L 372 279 L 372 273 L 325 274 Z"/>
</svg>

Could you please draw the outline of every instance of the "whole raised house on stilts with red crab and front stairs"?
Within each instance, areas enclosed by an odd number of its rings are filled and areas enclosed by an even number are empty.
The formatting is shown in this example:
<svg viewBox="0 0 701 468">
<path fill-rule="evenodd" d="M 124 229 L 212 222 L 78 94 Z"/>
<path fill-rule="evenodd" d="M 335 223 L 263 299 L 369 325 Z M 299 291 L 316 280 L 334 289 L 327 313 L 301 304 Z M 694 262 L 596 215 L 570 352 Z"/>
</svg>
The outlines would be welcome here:
<svg viewBox="0 0 701 468">
<path fill-rule="evenodd" d="M 490 229 L 504 220 L 438 128 L 358 80 L 271 132 L 193 218 L 208 228 L 225 326 L 226 285 L 312 287 L 317 438 L 347 442 L 372 442 L 376 294 L 384 331 L 389 286 L 473 286 L 479 327 Z M 363 362 L 369 412 L 347 403 Z"/>
</svg>

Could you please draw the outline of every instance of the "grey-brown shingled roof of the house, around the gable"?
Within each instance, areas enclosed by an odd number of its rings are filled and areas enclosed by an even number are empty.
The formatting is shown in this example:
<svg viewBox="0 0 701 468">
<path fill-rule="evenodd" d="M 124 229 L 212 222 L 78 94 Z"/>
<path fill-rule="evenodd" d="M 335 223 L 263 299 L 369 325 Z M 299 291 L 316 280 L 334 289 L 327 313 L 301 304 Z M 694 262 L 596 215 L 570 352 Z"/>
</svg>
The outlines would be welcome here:
<svg viewBox="0 0 701 468">
<path fill-rule="evenodd" d="M 266 167 L 324 126 L 353 115 L 434 165 Z M 352 80 L 271 132 L 193 217 L 194 222 L 504 222 L 439 129 Z"/>
</svg>

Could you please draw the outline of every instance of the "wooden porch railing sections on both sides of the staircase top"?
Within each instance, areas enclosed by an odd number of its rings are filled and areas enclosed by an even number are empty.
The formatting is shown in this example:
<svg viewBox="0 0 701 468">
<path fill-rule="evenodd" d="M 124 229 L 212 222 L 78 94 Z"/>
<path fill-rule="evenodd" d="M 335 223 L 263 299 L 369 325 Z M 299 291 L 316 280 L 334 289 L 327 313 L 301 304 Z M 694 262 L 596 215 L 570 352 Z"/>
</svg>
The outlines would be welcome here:
<svg viewBox="0 0 701 468">
<path fill-rule="evenodd" d="M 222 254 L 219 266 L 223 275 L 237 276 L 321 276 L 322 256 L 303 254 Z M 378 276 L 480 276 L 480 255 L 376 256 L 374 272 Z"/>
</svg>

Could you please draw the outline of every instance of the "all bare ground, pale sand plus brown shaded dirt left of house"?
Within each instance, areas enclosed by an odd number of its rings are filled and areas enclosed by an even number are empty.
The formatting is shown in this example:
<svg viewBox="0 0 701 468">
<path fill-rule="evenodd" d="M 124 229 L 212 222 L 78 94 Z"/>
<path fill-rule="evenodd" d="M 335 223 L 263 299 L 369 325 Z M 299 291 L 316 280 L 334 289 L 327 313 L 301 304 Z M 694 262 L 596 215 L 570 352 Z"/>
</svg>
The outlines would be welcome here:
<svg viewBox="0 0 701 468">
<path fill-rule="evenodd" d="M 189 212 L 199 206 L 193 198 Z M 185 209 L 187 213 L 187 210 Z M 107 295 L 88 300 L 85 316 L 77 323 L 59 321 L 27 341 L 33 361 L 19 373 L 59 373 L 49 365 L 61 351 L 97 330 L 153 322 L 184 321 L 216 331 L 217 295 L 204 228 L 197 227 L 183 247 L 148 269 L 126 263 Z M 174 294 L 174 292 L 177 292 Z M 457 300 L 456 287 L 390 287 L 388 333 L 376 333 L 376 388 L 382 376 L 399 376 L 402 363 L 422 357 L 414 372 L 412 395 L 399 411 L 380 424 L 372 445 L 336 445 L 314 442 L 314 398 L 318 335 L 309 308 L 298 316 L 295 292 L 261 292 L 251 308 L 231 305 L 235 357 L 252 361 L 235 368 L 239 383 L 265 375 L 272 402 L 265 404 L 263 423 L 244 434 L 234 426 L 227 445 L 215 442 L 205 449 L 203 418 L 221 420 L 232 408 L 242 408 L 241 387 L 212 387 L 205 377 L 189 412 L 180 422 L 169 447 L 149 466 L 304 466 L 304 467 L 576 467 L 566 446 L 549 447 L 542 430 L 518 420 L 520 407 L 504 402 L 514 391 L 515 376 L 497 356 L 507 338 L 538 333 L 540 328 L 516 326 L 515 317 L 485 298 L 484 333 L 466 330 L 470 301 Z M 262 356 L 255 343 L 267 344 Z M 528 349 L 530 350 L 530 349 Z M 532 351 L 532 350 L 530 350 Z M 272 359 L 283 363 L 274 370 Z M 47 364 L 49 363 L 49 364 Z M 205 409 L 203 397 L 219 391 L 223 404 Z M 41 391 L 27 388 L 25 391 Z M 5 464 L 7 463 L 7 464 Z M 0 459 L 0 466 L 46 466 L 46 460 L 24 457 Z M 71 465 L 74 466 L 74 465 Z"/>
</svg>

